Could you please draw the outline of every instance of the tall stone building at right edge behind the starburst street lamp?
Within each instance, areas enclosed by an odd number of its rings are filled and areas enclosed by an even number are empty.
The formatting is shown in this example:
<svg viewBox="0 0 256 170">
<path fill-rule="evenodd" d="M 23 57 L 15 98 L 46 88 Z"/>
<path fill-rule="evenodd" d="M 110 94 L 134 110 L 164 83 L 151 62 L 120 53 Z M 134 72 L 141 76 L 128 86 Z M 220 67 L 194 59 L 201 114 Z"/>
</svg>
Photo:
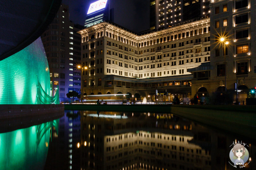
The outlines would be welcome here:
<svg viewBox="0 0 256 170">
<path fill-rule="evenodd" d="M 202 86 L 204 91 L 225 91 L 225 63 L 227 91 L 234 92 L 238 81 L 238 101 L 246 101 L 249 89 L 255 85 L 255 4 L 242 1 L 211 1 L 211 82 L 194 78 L 192 93 Z M 224 37 L 223 43 L 220 38 Z M 224 55 L 224 43 L 226 57 Z M 195 80 L 195 81 L 194 81 Z M 236 92 L 235 92 L 236 93 Z M 234 101 L 236 101 L 234 94 Z"/>
</svg>

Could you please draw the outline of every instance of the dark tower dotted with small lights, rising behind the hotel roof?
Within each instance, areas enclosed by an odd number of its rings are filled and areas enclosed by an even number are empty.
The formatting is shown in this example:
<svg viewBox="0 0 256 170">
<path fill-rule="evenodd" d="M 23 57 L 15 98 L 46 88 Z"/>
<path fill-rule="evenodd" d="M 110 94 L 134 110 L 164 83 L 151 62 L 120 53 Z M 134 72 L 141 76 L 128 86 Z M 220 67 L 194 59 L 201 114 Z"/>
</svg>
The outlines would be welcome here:
<svg viewBox="0 0 256 170">
<path fill-rule="evenodd" d="M 208 18 L 210 12 L 208 0 L 150 0 L 150 29 Z"/>
</svg>

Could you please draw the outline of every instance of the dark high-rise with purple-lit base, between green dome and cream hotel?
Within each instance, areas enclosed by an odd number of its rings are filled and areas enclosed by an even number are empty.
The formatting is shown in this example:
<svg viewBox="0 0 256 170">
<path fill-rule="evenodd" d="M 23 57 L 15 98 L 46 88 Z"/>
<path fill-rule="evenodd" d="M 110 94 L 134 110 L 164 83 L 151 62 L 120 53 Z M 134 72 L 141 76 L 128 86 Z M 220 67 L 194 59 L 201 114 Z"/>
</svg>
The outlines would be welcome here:
<svg viewBox="0 0 256 170">
<path fill-rule="evenodd" d="M 61 4 L 54 20 L 41 35 L 50 68 L 52 96 L 59 86 L 60 101 L 67 101 L 70 91 L 80 93 L 81 36 L 83 26 L 69 20 L 68 6 Z"/>
</svg>

